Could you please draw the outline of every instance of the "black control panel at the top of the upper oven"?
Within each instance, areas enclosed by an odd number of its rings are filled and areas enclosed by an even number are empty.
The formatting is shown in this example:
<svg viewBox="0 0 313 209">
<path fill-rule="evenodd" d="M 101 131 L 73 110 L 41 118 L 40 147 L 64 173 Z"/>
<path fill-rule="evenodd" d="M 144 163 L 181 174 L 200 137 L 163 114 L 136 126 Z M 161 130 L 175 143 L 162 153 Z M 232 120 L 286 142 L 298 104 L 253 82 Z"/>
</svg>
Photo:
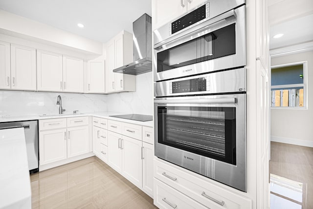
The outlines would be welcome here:
<svg viewBox="0 0 313 209">
<path fill-rule="evenodd" d="M 169 24 L 170 35 L 210 16 L 210 2 Z"/>
</svg>

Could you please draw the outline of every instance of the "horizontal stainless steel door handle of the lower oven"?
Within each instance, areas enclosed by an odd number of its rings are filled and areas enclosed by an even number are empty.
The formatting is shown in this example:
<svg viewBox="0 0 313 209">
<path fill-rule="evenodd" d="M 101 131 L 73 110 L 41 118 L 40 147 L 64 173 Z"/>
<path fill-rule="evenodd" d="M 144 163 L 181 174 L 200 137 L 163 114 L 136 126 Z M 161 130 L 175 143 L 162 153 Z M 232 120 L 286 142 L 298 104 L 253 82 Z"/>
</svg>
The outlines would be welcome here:
<svg viewBox="0 0 313 209">
<path fill-rule="evenodd" d="M 235 104 L 236 98 L 155 100 L 155 104 Z"/>
</svg>

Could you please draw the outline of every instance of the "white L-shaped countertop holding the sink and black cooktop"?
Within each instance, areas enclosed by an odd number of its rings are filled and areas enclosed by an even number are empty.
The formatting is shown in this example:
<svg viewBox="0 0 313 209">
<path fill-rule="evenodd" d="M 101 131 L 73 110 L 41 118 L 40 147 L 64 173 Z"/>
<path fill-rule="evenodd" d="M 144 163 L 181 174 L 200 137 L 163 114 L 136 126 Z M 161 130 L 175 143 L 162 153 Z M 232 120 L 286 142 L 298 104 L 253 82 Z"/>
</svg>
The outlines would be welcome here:
<svg viewBox="0 0 313 209">
<path fill-rule="evenodd" d="M 89 113 L 79 113 L 79 114 L 54 114 L 54 115 L 20 115 L 20 116 L 2 116 L 0 117 L 0 123 L 2 122 L 13 122 L 13 121 L 31 121 L 31 120 L 43 120 L 52 118 L 69 118 L 69 117 L 79 117 L 79 116 L 94 116 L 99 118 L 106 118 L 113 121 L 120 121 L 130 124 L 143 125 L 153 127 L 153 121 L 134 121 L 129 119 L 110 117 L 110 115 L 125 115 L 127 113 L 120 112 L 89 112 Z"/>
</svg>

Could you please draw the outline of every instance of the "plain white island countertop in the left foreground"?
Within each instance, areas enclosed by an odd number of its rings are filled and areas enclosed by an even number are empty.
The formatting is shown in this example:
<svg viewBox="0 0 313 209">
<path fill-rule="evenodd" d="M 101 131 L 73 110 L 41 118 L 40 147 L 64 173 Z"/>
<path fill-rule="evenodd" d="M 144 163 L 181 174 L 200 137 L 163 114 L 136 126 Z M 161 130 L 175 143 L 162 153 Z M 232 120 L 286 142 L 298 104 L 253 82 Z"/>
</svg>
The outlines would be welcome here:
<svg viewBox="0 0 313 209">
<path fill-rule="evenodd" d="M 24 128 L 0 130 L 0 209 L 31 209 Z"/>
</svg>

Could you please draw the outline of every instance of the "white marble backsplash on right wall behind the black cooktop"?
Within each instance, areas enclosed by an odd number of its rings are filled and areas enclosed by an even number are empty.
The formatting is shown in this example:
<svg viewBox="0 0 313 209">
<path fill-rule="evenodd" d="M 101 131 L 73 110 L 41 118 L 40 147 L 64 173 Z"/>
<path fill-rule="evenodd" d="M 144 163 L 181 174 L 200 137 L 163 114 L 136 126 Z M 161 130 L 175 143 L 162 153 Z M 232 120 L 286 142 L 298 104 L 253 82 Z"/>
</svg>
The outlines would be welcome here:
<svg viewBox="0 0 313 209">
<path fill-rule="evenodd" d="M 152 72 L 136 76 L 136 91 L 107 95 L 108 111 L 153 115 Z"/>
</svg>

